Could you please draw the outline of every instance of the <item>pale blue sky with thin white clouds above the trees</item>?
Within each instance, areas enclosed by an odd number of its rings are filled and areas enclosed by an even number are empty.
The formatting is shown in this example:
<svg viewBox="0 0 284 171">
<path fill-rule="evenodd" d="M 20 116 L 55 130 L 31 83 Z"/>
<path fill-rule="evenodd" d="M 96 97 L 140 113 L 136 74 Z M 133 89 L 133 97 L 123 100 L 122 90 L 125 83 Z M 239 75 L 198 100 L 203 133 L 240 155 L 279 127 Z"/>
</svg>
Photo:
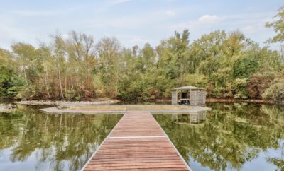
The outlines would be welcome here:
<svg viewBox="0 0 284 171">
<path fill-rule="evenodd" d="M 71 30 L 100 38 L 116 37 L 124 47 L 146 42 L 153 47 L 175 33 L 190 30 L 190 41 L 214 30 L 240 30 L 261 46 L 275 32 L 273 20 L 283 0 L 101 0 L 1 1 L 0 48 L 16 42 L 35 47 L 50 35 L 67 37 Z M 275 19 L 274 19 L 275 20 Z"/>
</svg>

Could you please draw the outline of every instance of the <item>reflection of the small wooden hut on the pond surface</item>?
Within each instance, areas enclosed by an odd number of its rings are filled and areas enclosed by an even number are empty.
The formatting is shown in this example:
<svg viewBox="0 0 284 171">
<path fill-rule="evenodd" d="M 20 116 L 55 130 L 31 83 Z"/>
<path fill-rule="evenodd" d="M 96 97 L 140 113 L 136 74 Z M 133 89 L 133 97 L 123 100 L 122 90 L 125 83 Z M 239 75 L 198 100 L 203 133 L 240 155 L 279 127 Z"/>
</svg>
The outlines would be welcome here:
<svg viewBox="0 0 284 171">
<path fill-rule="evenodd" d="M 189 114 L 172 114 L 175 124 L 200 124 L 206 120 L 206 112 Z"/>
</svg>

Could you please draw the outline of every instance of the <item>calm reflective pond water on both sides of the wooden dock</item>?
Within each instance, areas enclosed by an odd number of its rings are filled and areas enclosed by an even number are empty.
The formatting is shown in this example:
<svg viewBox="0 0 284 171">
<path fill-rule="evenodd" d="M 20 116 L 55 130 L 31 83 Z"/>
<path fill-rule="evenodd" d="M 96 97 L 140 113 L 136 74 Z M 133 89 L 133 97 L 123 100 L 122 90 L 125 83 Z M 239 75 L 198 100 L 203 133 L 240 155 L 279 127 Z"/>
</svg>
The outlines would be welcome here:
<svg viewBox="0 0 284 171">
<path fill-rule="evenodd" d="M 202 115 L 154 114 L 192 170 L 284 170 L 284 107 L 209 103 Z M 0 170 L 80 170 L 121 115 L 0 113 Z"/>
</svg>

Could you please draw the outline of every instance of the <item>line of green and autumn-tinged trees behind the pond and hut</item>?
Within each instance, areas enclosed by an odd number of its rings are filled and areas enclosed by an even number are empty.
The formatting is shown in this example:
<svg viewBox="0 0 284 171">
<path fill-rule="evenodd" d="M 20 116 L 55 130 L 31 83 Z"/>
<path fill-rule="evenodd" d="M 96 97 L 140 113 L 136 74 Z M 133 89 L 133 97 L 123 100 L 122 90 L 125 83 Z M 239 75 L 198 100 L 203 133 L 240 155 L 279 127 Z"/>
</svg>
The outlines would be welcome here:
<svg viewBox="0 0 284 171">
<path fill-rule="evenodd" d="M 212 98 L 284 100 L 284 8 L 269 43 L 278 51 L 245 37 L 239 30 L 216 30 L 190 41 L 189 30 L 175 32 L 160 45 L 121 46 L 115 37 L 95 42 L 71 31 L 34 47 L 16 42 L 0 49 L 0 99 L 92 100 L 170 98 L 171 90 L 192 85 Z"/>
</svg>

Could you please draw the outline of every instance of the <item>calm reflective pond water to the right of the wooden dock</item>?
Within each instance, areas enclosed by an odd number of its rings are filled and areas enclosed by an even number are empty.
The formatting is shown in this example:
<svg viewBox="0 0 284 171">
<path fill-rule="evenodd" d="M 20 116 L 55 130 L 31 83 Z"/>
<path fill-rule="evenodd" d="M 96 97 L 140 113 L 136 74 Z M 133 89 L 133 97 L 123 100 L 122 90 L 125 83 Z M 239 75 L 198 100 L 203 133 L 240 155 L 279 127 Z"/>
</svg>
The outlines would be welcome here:
<svg viewBox="0 0 284 171">
<path fill-rule="evenodd" d="M 284 170 L 284 107 L 211 103 L 202 122 L 154 114 L 192 170 Z"/>
</svg>

